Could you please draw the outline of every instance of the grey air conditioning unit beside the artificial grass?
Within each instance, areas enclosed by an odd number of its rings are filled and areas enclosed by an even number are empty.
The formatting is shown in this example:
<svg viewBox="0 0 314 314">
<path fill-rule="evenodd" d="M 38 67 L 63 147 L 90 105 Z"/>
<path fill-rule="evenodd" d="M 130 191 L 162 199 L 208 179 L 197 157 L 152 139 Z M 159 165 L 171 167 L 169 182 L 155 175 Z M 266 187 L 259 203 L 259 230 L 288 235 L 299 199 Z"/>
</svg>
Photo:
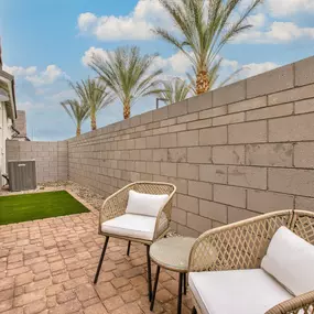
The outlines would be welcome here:
<svg viewBox="0 0 314 314">
<path fill-rule="evenodd" d="M 36 164 L 34 160 L 8 161 L 10 191 L 35 190 Z"/>
</svg>

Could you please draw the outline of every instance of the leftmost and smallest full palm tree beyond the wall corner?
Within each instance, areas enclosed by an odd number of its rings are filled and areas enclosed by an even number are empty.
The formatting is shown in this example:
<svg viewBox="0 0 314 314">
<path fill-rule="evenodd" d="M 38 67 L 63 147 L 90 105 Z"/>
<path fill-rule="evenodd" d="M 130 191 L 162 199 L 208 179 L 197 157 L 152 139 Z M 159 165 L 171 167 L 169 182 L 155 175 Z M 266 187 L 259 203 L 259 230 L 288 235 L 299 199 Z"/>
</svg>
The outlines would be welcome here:
<svg viewBox="0 0 314 314">
<path fill-rule="evenodd" d="M 80 136 L 80 127 L 82 123 L 88 118 L 89 108 L 80 105 L 76 99 L 67 99 L 62 101 L 61 106 L 76 124 L 76 136 Z"/>
</svg>

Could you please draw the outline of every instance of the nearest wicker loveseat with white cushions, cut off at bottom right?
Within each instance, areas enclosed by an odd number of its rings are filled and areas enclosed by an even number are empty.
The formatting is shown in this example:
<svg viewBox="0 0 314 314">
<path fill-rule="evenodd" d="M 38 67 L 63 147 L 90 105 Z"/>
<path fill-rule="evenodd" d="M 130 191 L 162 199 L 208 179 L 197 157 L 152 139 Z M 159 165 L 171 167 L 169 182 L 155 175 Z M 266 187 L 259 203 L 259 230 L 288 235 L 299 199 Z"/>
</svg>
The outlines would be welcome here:
<svg viewBox="0 0 314 314">
<path fill-rule="evenodd" d="M 300 251 L 299 247 L 288 250 L 285 259 L 280 251 L 282 246 L 274 251 L 279 259 L 283 259 L 280 263 L 275 261 L 279 272 L 288 268 L 285 261 L 292 259 L 295 262 L 310 252 L 310 259 L 303 258 L 297 267 L 288 269 L 292 282 L 303 284 L 307 281 L 310 290 L 305 293 L 293 293 L 272 273 L 262 269 L 263 257 L 269 256 L 281 230 L 296 239 L 297 246 L 300 242 L 307 246 L 306 250 L 302 246 Z M 193 313 L 313 314 L 313 245 L 314 213 L 304 210 L 274 212 L 204 232 L 190 256 L 188 282 L 195 305 Z M 303 262 L 307 263 L 307 268 L 303 267 Z"/>
</svg>

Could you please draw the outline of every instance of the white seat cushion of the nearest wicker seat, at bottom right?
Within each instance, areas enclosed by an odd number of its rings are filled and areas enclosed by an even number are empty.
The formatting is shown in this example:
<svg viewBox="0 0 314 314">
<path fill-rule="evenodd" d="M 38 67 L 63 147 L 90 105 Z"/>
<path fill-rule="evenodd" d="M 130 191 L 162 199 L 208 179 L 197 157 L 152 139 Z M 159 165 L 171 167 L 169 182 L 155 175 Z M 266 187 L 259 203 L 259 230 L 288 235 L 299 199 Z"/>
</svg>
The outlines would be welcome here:
<svg viewBox="0 0 314 314">
<path fill-rule="evenodd" d="M 210 314 L 263 314 L 292 295 L 261 269 L 192 272 L 190 288 Z"/>
</svg>

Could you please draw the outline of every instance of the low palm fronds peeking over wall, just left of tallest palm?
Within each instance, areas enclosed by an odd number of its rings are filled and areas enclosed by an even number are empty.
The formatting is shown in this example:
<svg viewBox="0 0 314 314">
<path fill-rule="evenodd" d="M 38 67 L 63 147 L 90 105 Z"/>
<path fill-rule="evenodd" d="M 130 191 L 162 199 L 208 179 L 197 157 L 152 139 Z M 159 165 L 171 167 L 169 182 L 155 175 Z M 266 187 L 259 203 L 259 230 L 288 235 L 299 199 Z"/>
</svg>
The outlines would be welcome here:
<svg viewBox="0 0 314 314">
<path fill-rule="evenodd" d="M 175 77 L 172 80 L 162 82 L 160 97 L 165 100 L 166 105 L 171 105 L 187 98 L 190 91 L 191 86 L 185 80 Z"/>
</svg>

